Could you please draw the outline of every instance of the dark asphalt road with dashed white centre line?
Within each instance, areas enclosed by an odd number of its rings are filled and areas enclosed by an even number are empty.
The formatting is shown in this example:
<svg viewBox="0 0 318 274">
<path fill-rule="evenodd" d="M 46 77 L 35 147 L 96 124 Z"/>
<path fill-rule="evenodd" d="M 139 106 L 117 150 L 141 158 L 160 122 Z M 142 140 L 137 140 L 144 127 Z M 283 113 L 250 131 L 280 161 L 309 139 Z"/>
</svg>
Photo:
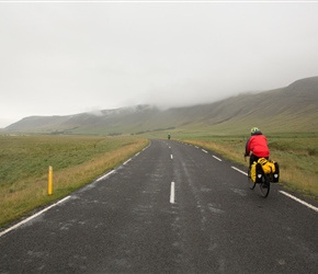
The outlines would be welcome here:
<svg viewBox="0 0 318 274">
<path fill-rule="evenodd" d="M 279 185 L 261 197 L 232 167 L 201 148 L 151 140 L 2 231 L 0 273 L 318 273 L 315 208 Z"/>
</svg>

